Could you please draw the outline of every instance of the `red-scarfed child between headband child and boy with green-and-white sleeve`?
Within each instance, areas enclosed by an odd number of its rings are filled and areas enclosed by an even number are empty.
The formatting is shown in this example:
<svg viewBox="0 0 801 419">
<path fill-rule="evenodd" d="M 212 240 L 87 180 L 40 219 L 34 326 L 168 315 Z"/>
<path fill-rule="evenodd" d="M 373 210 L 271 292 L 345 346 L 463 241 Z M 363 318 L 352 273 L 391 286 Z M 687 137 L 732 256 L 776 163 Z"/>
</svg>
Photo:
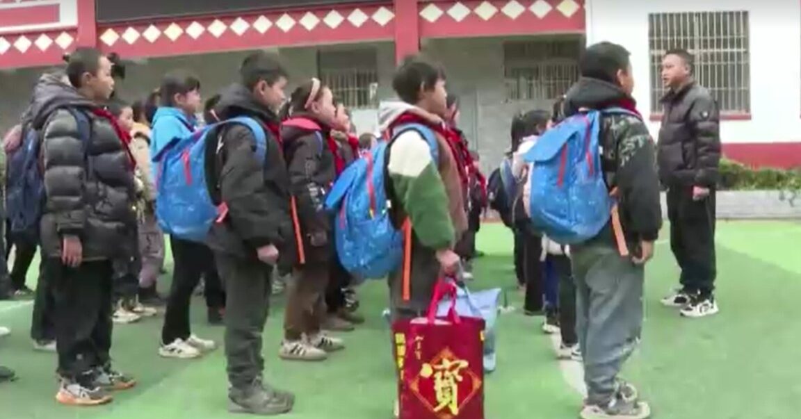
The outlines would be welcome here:
<svg viewBox="0 0 801 419">
<path fill-rule="evenodd" d="M 331 136 L 336 140 L 334 163 L 336 176 L 344 171 L 350 163 L 359 157 L 359 140 L 352 134 L 352 123 L 348 109 L 343 103 L 336 102 L 336 117 Z M 332 221 L 336 222 L 336 220 Z M 364 317 L 348 309 L 347 291 L 353 283 L 351 274 L 340 264 L 336 255 L 332 256 L 331 273 L 325 291 L 325 304 L 328 308 L 323 328 L 333 332 L 349 332 L 354 324 L 364 323 Z"/>
</svg>

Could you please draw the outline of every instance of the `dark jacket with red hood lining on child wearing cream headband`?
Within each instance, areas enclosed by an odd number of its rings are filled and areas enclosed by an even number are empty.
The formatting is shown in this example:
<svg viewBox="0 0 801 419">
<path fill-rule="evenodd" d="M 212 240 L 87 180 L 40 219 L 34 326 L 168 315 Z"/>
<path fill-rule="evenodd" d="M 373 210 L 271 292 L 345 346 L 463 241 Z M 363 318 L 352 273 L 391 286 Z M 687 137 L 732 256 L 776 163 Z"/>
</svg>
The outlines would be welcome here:
<svg viewBox="0 0 801 419">
<path fill-rule="evenodd" d="M 289 182 L 295 196 L 296 228 L 306 263 L 328 262 L 333 255 L 330 216 L 323 207 L 325 194 L 336 179 L 336 165 L 328 137 L 331 130 L 304 114 L 293 115 L 281 126 Z M 301 262 L 301 260 L 298 260 Z"/>
</svg>

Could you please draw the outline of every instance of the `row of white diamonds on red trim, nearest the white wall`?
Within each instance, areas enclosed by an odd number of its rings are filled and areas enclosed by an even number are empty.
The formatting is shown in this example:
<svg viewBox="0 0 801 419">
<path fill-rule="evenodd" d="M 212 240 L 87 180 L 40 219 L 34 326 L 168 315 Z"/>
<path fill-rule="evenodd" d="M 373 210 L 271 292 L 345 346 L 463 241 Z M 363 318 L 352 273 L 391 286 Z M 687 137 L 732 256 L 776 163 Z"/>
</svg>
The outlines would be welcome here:
<svg viewBox="0 0 801 419">
<path fill-rule="evenodd" d="M 485 21 L 499 16 L 505 16 L 515 20 L 525 13 L 532 13 L 537 16 L 537 18 L 545 18 L 545 16 L 552 13 L 559 13 L 566 18 L 572 18 L 573 15 L 578 13 L 581 9 L 581 3 L 576 0 L 561 0 L 557 2 L 548 2 L 546 0 L 511 0 L 509 2 L 485 1 L 472 7 L 465 5 L 464 2 L 455 2 L 449 6 L 437 6 L 437 3 L 429 3 L 427 6 L 421 8 L 420 16 L 431 23 L 437 22 L 445 15 L 453 18 L 456 22 L 461 22 L 470 14 L 476 14 Z"/>
</svg>

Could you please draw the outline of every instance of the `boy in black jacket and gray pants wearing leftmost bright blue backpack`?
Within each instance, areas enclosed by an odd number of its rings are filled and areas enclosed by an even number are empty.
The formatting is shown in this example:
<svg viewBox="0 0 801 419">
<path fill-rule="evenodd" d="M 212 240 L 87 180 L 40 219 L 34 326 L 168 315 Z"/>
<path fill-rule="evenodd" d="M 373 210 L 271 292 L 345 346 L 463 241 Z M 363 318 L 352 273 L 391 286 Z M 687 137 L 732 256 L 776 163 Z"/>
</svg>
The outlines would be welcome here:
<svg viewBox="0 0 801 419">
<path fill-rule="evenodd" d="M 227 204 L 227 216 L 211 229 L 208 244 L 226 286 L 225 356 L 228 409 L 273 415 L 292 410 L 295 397 L 264 383 L 262 334 L 270 306 L 274 266 L 291 253 L 289 179 L 284 163 L 276 109 L 284 102 L 287 72 L 277 58 L 256 52 L 244 59 L 239 83 L 223 91 L 219 119 L 248 116 L 267 135 L 263 162 L 255 158 L 256 139 L 245 127 L 223 131 L 213 173 L 215 200 Z"/>
</svg>

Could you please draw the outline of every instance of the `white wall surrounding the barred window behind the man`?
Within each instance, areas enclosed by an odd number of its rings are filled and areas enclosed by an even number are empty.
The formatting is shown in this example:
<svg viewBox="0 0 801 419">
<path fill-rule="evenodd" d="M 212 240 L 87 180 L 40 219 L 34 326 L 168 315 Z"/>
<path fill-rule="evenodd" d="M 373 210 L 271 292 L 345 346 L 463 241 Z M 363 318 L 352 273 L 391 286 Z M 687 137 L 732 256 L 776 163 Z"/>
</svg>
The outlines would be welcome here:
<svg viewBox="0 0 801 419">
<path fill-rule="evenodd" d="M 648 14 L 735 10 L 750 14 L 752 118 L 723 122 L 723 142 L 801 141 L 799 0 L 588 0 L 587 42 L 616 42 L 631 51 L 634 97 L 649 115 Z M 650 124 L 654 135 L 658 126 Z"/>
</svg>

